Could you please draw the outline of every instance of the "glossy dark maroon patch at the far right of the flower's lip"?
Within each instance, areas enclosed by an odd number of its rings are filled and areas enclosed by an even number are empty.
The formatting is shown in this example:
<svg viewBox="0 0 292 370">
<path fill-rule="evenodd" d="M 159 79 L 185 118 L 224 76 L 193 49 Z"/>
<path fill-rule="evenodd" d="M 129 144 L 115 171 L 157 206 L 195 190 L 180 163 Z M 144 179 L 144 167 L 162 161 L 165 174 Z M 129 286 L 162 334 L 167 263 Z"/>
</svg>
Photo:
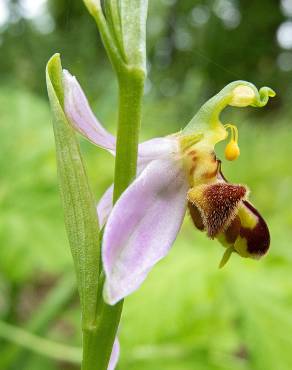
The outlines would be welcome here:
<svg viewBox="0 0 292 370">
<path fill-rule="evenodd" d="M 247 201 L 244 205 L 257 217 L 257 224 L 254 228 L 241 227 L 240 236 L 247 242 L 247 251 L 256 256 L 263 256 L 270 246 L 270 233 L 268 226 L 259 212 Z"/>
</svg>

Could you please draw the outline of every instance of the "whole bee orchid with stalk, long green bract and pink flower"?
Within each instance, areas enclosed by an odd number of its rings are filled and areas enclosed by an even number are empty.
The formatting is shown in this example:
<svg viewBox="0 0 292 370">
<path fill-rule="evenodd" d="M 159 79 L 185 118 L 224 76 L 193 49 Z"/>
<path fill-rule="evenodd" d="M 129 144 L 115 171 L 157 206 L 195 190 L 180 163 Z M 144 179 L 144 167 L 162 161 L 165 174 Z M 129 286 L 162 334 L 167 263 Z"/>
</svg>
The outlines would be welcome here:
<svg viewBox="0 0 292 370">
<path fill-rule="evenodd" d="M 47 66 L 64 219 L 81 302 L 82 370 L 113 370 L 123 298 L 167 255 L 189 211 L 194 226 L 232 253 L 258 259 L 268 227 L 245 185 L 229 183 L 215 145 L 240 155 L 238 129 L 223 124 L 227 106 L 263 107 L 275 95 L 245 81 L 228 84 L 179 132 L 138 144 L 146 70 L 147 0 L 84 0 L 96 21 L 119 86 L 117 139 L 94 116 L 59 55 Z M 115 156 L 114 184 L 95 204 L 75 132 Z M 101 255 L 101 258 L 100 258 Z"/>
</svg>

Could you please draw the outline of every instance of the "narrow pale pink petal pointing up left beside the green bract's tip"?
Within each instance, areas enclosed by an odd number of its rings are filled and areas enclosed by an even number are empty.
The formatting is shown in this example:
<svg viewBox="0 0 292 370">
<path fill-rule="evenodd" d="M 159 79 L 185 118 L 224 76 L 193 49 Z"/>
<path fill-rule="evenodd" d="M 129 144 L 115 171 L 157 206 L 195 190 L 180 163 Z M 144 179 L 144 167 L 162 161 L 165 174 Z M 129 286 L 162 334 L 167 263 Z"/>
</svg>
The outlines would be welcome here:
<svg viewBox="0 0 292 370">
<path fill-rule="evenodd" d="M 63 84 L 64 109 L 72 126 L 92 143 L 114 151 L 116 139 L 95 118 L 78 81 L 65 70 Z"/>
</svg>

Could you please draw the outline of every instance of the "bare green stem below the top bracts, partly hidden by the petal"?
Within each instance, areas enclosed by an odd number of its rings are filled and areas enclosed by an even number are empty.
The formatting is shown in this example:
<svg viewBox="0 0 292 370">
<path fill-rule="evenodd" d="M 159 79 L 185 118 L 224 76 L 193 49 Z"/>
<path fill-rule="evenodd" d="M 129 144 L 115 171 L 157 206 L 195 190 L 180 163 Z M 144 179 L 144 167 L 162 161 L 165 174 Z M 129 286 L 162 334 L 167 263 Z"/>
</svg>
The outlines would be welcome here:
<svg viewBox="0 0 292 370">
<path fill-rule="evenodd" d="M 119 75 L 119 118 L 115 162 L 114 202 L 136 176 L 144 72 L 125 68 Z M 103 276 L 100 286 L 103 285 Z M 95 324 L 83 328 L 82 370 L 106 370 L 121 318 L 123 301 L 115 306 L 98 299 Z"/>
</svg>

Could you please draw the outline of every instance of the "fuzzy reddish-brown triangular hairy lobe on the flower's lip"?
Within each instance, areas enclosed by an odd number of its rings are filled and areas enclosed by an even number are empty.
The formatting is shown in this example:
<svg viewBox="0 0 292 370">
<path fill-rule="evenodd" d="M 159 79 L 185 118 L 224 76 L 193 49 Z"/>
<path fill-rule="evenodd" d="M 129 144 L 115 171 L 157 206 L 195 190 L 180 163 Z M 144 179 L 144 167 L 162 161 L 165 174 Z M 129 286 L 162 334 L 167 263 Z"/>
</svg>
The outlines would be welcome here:
<svg viewBox="0 0 292 370">
<path fill-rule="evenodd" d="M 201 212 L 208 236 L 214 238 L 230 225 L 246 193 L 247 189 L 242 185 L 220 182 L 192 188 L 188 199 Z"/>
</svg>

